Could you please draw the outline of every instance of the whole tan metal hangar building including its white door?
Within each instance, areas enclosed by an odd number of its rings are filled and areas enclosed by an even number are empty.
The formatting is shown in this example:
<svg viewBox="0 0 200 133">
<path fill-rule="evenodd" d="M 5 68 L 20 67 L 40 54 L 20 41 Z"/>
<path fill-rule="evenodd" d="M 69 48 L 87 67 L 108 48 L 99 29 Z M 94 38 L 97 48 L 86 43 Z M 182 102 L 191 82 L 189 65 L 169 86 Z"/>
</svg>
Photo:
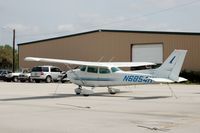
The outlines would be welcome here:
<svg viewBox="0 0 200 133">
<path fill-rule="evenodd" d="M 174 49 L 186 49 L 188 53 L 183 70 L 200 71 L 200 33 L 101 29 L 21 43 L 18 44 L 18 49 L 20 68 L 44 64 L 26 62 L 24 58 L 27 56 L 83 61 L 148 61 L 161 64 Z M 62 64 L 53 65 L 66 68 Z"/>
</svg>

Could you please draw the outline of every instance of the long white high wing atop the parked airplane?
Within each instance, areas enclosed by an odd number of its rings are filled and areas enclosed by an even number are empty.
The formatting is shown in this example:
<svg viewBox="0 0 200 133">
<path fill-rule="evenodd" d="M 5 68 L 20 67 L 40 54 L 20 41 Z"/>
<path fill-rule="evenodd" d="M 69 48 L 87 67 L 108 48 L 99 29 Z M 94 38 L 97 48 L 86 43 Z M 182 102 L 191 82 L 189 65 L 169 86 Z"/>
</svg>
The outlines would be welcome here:
<svg viewBox="0 0 200 133">
<path fill-rule="evenodd" d="M 38 62 L 52 62 L 62 64 L 73 64 L 73 65 L 85 65 L 85 66 L 102 66 L 102 67 L 139 67 L 155 65 L 150 62 L 88 62 L 88 61 L 76 61 L 76 60 L 61 60 L 61 59 L 50 59 L 50 58 L 38 58 L 38 57 L 26 57 L 25 61 L 38 61 Z"/>
</svg>

